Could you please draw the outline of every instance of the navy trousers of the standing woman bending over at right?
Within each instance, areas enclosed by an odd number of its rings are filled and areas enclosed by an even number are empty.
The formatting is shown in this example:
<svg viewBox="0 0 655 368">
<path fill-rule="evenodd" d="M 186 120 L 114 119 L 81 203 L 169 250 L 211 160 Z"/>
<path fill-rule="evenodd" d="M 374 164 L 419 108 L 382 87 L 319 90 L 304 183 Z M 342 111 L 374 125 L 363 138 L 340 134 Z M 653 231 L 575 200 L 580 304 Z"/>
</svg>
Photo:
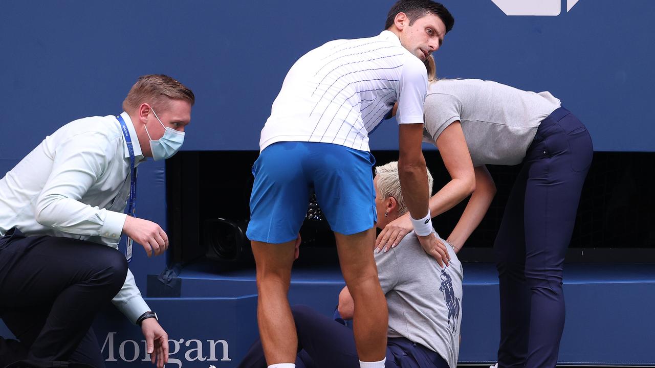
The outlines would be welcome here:
<svg viewBox="0 0 655 368">
<path fill-rule="evenodd" d="M 564 257 L 593 147 L 567 109 L 540 124 L 494 244 L 500 282 L 498 367 L 555 367 L 565 320 Z"/>
</svg>

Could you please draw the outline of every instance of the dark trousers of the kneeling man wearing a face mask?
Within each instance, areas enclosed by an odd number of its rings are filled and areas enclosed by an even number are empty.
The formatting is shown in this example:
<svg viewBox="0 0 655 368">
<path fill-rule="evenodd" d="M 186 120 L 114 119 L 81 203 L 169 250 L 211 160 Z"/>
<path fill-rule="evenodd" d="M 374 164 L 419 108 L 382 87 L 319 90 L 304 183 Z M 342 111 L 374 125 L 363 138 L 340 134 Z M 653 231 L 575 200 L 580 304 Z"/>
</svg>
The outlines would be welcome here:
<svg viewBox="0 0 655 368">
<path fill-rule="evenodd" d="M 18 341 L 0 337 L 0 367 L 20 359 L 104 367 L 91 324 L 126 274 L 111 247 L 9 230 L 0 238 L 0 318 Z"/>
</svg>

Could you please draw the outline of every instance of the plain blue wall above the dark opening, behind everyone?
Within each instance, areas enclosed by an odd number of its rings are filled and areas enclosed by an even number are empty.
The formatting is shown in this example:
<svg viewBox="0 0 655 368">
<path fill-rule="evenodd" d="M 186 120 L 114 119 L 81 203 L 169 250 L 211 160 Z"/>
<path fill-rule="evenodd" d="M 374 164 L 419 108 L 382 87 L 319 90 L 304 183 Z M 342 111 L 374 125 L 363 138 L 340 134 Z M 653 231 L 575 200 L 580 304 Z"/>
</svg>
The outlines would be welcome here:
<svg viewBox="0 0 655 368">
<path fill-rule="evenodd" d="M 291 64 L 331 39 L 379 33 L 392 3 L 2 1 L 0 121 L 12 140 L 0 143 L 0 158 L 24 156 L 70 120 L 119 113 L 147 73 L 196 92 L 185 149 L 255 150 Z M 456 24 L 435 54 L 440 75 L 550 90 L 588 125 L 597 151 L 655 149 L 655 37 L 645 29 L 654 1 L 580 0 L 569 12 L 562 1 L 557 16 L 507 16 L 492 0 L 444 3 Z M 371 147 L 396 149 L 393 122 Z"/>
</svg>

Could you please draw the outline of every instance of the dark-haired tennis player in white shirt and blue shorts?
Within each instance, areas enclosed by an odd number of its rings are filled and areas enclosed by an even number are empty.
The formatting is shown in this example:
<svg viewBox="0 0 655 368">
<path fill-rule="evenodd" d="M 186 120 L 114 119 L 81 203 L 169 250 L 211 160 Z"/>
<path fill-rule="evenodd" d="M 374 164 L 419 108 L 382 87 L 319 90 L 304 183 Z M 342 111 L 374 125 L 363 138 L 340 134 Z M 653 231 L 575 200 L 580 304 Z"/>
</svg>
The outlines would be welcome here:
<svg viewBox="0 0 655 368">
<path fill-rule="evenodd" d="M 432 233 L 421 140 L 424 60 L 453 23 L 440 3 L 401 0 L 389 11 L 382 33 L 328 42 L 301 57 L 284 79 L 261 131 L 247 232 L 257 263 L 257 318 L 269 367 L 295 367 L 297 336 L 287 293 L 312 192 L 335 232 L 354 300 L 360 365 L 384 367 L 388 313 L 372 251 L 375 159 L 368 134 L 396 101 L 405 201 L 422 247 L 447 265 L 447 249 Z"/>
</svg>

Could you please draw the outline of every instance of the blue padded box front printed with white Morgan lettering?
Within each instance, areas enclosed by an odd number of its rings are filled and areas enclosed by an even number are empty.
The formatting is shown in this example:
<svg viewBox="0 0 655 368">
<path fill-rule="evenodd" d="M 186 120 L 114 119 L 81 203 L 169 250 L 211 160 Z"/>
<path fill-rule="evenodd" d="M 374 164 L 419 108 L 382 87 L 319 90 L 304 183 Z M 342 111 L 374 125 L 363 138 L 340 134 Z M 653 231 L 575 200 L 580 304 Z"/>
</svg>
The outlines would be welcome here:
<svg viewBox="0 0 655 368">
<path fill-rule="evenodd" d="M 236 367 L 257 337 L 252 320 L 257 297 L 146 299 L 166 320 L 170 358 L 166 367 Z M 183 315 L 179 312 L 186 311 Z M 114 309 L 94 324 L 107 367 L 152 367 L 140 328 Z"/>
</svg>

